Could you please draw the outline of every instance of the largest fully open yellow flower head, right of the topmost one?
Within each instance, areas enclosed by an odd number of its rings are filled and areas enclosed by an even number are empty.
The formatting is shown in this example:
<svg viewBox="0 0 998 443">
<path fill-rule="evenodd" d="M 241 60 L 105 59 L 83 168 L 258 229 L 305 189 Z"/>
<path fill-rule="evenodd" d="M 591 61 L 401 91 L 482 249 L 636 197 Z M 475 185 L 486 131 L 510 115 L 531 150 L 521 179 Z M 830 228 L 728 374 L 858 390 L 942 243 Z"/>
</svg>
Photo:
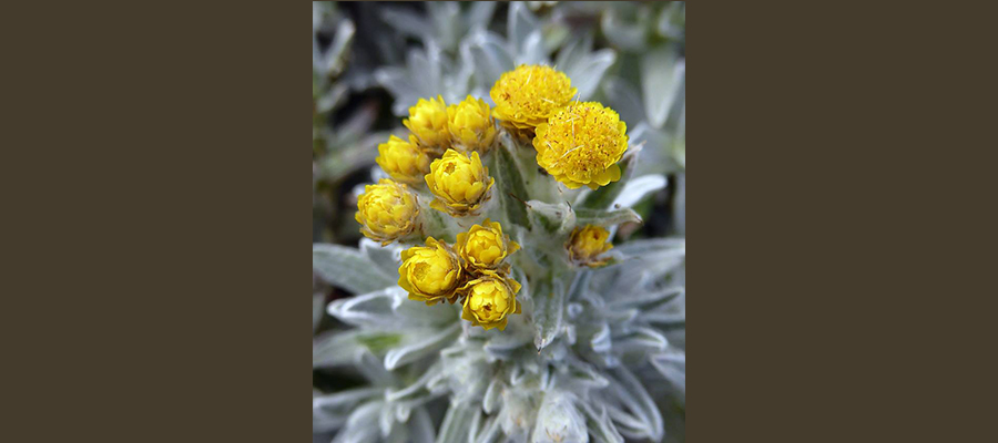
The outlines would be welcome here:
<svg viewBox="0 0 998 443">
<path fill-rule="evenodd" d="M 572 103 L 537 126 L 537 164 L 576 189 L 595 189 L 620 179 L 620 157 L 628 150 L 628 125 L 597 102 Z"/>
</svg>

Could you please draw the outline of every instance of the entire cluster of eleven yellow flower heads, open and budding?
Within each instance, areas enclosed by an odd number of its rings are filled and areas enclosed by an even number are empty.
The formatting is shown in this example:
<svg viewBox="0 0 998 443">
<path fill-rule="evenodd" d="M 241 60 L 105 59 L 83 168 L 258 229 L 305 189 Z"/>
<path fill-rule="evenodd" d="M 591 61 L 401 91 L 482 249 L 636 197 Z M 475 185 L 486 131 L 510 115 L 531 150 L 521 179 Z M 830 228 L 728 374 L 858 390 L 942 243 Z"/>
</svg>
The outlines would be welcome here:
<svg viewBox="0 0 998 443">
<path fill-rule="evenodd" d="M 520 312 L 520 284 L 505 261 L 520 246 L 490 218 L 457 234 L 449 245 L 439 239 L 448 235 L 439 218 L 436 224 L 422 222 L 418 196 L 459 219 L 493 212 L 485 203 L 496 179 L 482 163 L 498 138 L 493 115 L 516 138 L 532 137 L 537 166 L 568 188 L 595 189 L 619 181 L 627 125 L 600 103 L 572 101 L 576 93 L 564 73 L 521 65 L 493 85 L 495 110 L 471 96 L 450 105 L 440 96 L 420 99 L 403 122 L 408 136 L 393 135 L 378 146 L 377 163 L 391 179 L 365 188 L 356 219 L 365 236 L 383 244 L 425 240 L 401 253 L 398 285 L 410 299 L 427 305 L 460 301 L 461 318 L 485 329 L 503 330 L 509 316 Z M 605 265 L 609 237 L 601 227 L 577 227 L 564 240 L 563 257 L 580 267 Z"/>
</svg>

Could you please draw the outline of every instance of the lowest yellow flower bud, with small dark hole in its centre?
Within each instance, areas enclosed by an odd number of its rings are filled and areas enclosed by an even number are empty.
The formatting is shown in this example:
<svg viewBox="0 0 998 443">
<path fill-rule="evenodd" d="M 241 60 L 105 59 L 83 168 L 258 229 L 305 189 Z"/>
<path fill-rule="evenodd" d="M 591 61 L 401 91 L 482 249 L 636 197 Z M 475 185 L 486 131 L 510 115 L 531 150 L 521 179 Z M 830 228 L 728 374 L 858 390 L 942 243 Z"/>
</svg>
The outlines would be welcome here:
<svg viewBox="0 0 998 443">
<path fill-rule="evenodd" d="M 460 290 L 465 296 L 461 318 L 486 330 L 506 329 L 509 316 L 520 313 L 517 292 L 520 284 L 509 277 L 492 271 L 465 284 Z"/>
</svg>

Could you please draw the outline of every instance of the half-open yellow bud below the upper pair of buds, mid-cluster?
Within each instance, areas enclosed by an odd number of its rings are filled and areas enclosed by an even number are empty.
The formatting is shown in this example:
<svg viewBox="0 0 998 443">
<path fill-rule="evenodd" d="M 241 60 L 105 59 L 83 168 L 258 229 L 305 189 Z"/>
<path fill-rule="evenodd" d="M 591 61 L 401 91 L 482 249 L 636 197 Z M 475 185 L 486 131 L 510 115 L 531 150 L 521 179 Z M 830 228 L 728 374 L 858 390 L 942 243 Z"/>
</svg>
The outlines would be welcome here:
<svg viewBox="0 0 998 443">
<path fill-rule="evenodd" d="M 489 190 L 495 183 L 477 152 L 469 157 L 447 150 L 442 158 L 430 164 L 430 173 L 426 175 L 426 185 L 437 196 L 430 202 L 430 207 L 455 217 L 473 215 L 489 199 Z"/>
</svg>

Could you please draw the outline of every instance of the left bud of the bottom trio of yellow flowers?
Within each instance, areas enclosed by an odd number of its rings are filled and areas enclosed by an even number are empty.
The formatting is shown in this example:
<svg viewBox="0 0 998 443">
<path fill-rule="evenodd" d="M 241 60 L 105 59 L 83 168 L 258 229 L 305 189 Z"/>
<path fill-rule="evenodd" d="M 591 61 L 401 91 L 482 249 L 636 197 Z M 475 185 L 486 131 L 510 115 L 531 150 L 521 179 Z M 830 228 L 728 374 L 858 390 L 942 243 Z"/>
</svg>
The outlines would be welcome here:
<svg viewBox="0 0 998 443">
<path fill-rule="evenodd" d="M 426 246 L 404 250 L 401 259 L 398 286 L 409 292 L 409 299 L 427 305 L 457 300 L 455 289 L 461 280 L 461 264 L 447 244 L 429 237 Z"/>
</svg>

